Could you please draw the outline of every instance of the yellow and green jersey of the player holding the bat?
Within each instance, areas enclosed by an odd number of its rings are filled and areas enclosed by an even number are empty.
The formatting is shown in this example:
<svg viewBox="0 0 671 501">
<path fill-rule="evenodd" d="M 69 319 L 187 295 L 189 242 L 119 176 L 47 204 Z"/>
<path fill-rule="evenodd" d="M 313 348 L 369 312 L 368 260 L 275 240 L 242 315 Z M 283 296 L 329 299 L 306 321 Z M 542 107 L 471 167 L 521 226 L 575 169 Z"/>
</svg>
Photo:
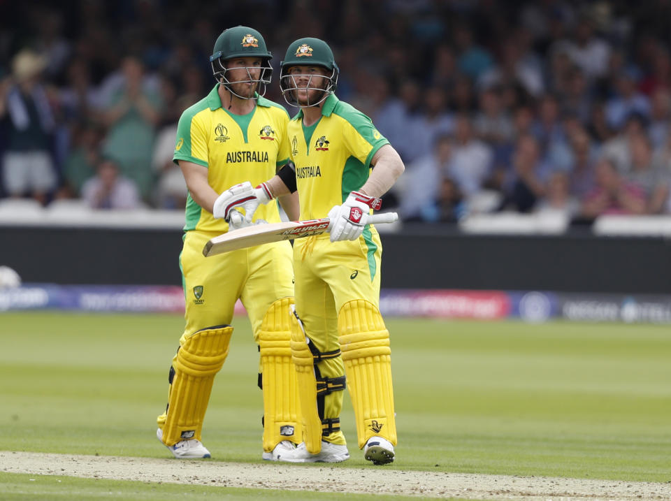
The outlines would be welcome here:
<svg viewBox="0 0 671 501">
<path fill-rule="evenodd" d="M 316 124 L 303 125 L 298 112 L 287 127 L 291 159 L 296 165 L 296 187 L 301 219 L 326 217 L 351 191 L 363 186 L 370 160 L 389 141 L 370 118 L 331 94 Z"/>
</svg>

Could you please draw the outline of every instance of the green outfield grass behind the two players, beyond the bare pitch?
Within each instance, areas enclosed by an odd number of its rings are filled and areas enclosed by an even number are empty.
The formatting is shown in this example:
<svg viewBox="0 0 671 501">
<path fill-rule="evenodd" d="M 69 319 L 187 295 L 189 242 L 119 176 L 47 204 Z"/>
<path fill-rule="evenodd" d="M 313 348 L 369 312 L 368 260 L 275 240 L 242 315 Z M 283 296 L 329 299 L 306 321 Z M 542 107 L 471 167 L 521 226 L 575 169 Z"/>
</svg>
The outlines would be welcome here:
<svg viewBox="0 0 671 501">
<path fill-rule="evenodd" d="M 394 468 L 671 480 L 668 326 L 387 324 Z M 0 314 L 0 450 L 169 457 L 155 418 L 182 325 L 171 315 Z M 233 325 L 203 442 L 216 460 L 260 462 L 258 354 L 247 319 Z M 342 428 L 344 466 L 363 466 L 349 397 Z"/>
</svg>

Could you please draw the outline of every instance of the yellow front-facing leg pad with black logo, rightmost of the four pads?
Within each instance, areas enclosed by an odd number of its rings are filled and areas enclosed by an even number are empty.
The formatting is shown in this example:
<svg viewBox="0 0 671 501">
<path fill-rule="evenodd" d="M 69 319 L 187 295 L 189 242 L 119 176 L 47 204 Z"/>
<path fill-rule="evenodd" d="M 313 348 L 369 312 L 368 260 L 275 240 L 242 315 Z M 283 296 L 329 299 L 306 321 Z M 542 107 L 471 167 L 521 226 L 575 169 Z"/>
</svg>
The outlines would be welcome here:
<svg viewBox="0 0 671 501">
<path fill-rule="evenodd" d="M 396 445 L 389 331 L 380 311 L 366 300 L 345 303 L 338 313 L 338 335 L 359 448 L 373 436 Z"/>
</svg>

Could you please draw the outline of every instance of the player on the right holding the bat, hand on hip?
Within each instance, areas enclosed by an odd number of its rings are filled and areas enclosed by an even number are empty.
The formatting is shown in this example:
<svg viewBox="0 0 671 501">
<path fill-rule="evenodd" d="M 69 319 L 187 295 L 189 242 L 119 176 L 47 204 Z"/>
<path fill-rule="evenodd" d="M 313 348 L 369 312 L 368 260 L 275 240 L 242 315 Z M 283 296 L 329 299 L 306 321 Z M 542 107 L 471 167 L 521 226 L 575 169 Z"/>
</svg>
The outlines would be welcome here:
<svg viewBox="0 0 671 501">
<path fill-rule="evenodd" d="M 301 219 L 328 215 L 332 222 L 330 238 L 294 241 L 291 351 L 305 443 L 284 459 L 349 458 L 340 431 L 347 375 L 359 448 L 374 464 L 385 464 L 394 460 L 396 445 L 391 351 L 379 310 L 382 245 L 367 218 L 405 167 L 370 119 L 333 94 L 337 81 L 338 66 L 324 41 L 301 38 L 289 45 L 280 87 L 284 99 L 301 108 L 287 129 L 296 179 L 277 175 L 266 186 L 273 196 L 298 189 Z M 254 205 L 245 195 L 240 200 L 249 212 Z"/>
</svg>

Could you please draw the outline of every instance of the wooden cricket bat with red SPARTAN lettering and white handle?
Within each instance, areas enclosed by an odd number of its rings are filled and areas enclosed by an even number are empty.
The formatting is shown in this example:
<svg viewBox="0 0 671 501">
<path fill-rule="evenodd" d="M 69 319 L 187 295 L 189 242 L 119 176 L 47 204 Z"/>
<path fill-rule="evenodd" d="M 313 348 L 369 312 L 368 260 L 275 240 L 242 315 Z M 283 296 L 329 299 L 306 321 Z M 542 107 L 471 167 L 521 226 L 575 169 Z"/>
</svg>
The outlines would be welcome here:
<svg viewBox="0 0 671 501">
<path fill-rule="evenodd" d="M 373 224 L 393 223 L 398 219 L 396 212 L 384 212 L 384 214 L 373 214 L 368 217 L 368 222 Z M 203 256 L 215 256 L 254 245 L 279 242 L 280 240 L 293 240 L 294 238 L 321 235 L 329 228 L 330 219 L 310 219 L 308 221 L 289 221 L 286 223 L 255 224 L 238 230 L 229 231 L 218 237 L 210 239 L 203 247 Z"/>
</svg>

